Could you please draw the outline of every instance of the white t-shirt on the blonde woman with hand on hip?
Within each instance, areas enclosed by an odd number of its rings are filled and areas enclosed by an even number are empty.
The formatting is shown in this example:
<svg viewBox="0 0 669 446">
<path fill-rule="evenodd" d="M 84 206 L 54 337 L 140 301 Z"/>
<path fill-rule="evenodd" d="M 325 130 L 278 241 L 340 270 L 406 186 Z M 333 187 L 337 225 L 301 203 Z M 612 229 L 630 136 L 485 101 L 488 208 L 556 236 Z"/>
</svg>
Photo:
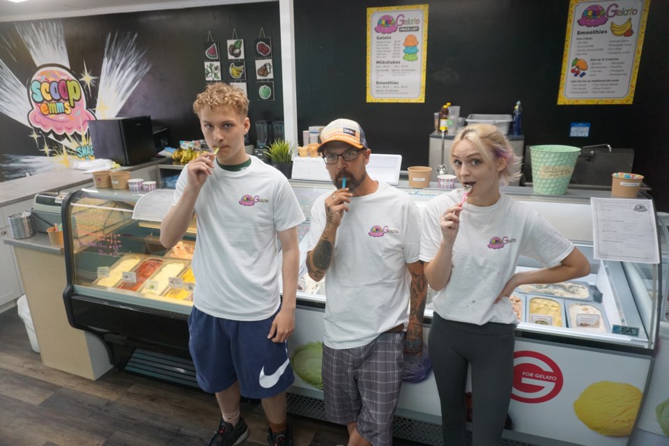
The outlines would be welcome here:
<svg viewBox="0 0 669 446">
<path fill-rule="evenodd" d="M 461 190 L 440 194 L 425 206 L 420 242 L 422 261 L 430 262 L 436 256 L 442 240 L 439 218 L 460 202 L 462 194 Z M 574 244 L 544 217 L 505 194 L 493 206 L 465 203 L 453 246 L 451 277 L 434 296 L 434 310 L 451 321 L 477 325 L 516 323 L 508 298 L 494 302 L 514 275 L 519 256 L 555 266 L 573 249 Z"/>
</svg>

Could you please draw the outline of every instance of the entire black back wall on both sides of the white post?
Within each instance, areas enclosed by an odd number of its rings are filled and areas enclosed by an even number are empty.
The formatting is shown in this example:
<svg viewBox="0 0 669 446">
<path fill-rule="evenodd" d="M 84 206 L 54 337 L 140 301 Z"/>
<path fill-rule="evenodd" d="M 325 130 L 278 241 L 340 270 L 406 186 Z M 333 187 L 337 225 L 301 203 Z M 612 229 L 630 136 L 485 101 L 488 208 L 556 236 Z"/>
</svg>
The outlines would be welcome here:
<svg viewBox="0 0 669 446">
<path fill-rule="evenodd" d="M 368 104 L 367 8 L 416 3 L 429 4 L 426 100 L 424 104 Z M 406 169 L 427 163 L 433 112 L 444 102 L 460 105 L 461 116 L 467 116 L 509 114 L 516 100 L 521 100 L 526 145 L 608 143 L 634 148 L 634 171 L 645 175 L 657 208 L 669 210 L 668 124 L 663 116 L 669 103 L 669 2 L 653 0 L 650 5 L 633 105 L 557 105 L 569 0 L 295 0 L 294 11 L 300 143 L 301 130 L 308 125 L 346 116 L 360 121 L 374 150 L 401 153 Z M 225 40 L 236 29 L 246 40 L 250 68 L 252 42 L 263 26 L 274 47 L 277 96 L 275 102 L 256 100 L 256 81 L 249 79 L 249 115 L 252 121 L 283 118 L 277 1 L 62 22 L 75 73 L 83 72 L 85 61 L 93 75 L 100 74 L 108 33 L 139 33 L 137 45 L 147 49 L 152 68 L 121 114 L 150 114 L 153 121 L 169 127 L 172 145 L 201 135 L 191 105 L 205 85 L 202 43 L 207 31 L 224 49 Z M 0 23 L 0 36 L 17 43 L 16 60 L 8 55 L 7 45 L 0 45 L 0 59 L 27 84 L 35 66 L 13 23 Z M 95 107 L 95 102 L 89 107 Z M 590 137 L 570 138 L 571 122 L 591 123 Z M 254 132 L 252 125 L 252 141 Z M 0 114 L 0 155 L 41 155 L 29 133 L 24 125 Z"/>
</svg>

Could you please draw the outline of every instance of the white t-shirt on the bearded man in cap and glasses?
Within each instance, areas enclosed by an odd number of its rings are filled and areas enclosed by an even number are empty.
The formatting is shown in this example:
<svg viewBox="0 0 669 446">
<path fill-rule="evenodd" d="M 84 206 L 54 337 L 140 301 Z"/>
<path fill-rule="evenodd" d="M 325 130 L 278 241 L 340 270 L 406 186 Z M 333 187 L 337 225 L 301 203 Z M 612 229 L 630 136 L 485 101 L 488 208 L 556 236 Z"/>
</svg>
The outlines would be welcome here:
<svg viewBox="0 0 669 446">
<path fill-rule="evenodd" d="M 312 206 L 309 250 L 325 227 L 325 199 Z M 351 197 L 325 275 L 325 332 L 330 348 L 369 344 L 380 333 L 408 322 L 410 275 L 418 261 L 420 215 L 412 199 L 385 183 L 373 194 Z"/>
</svg>

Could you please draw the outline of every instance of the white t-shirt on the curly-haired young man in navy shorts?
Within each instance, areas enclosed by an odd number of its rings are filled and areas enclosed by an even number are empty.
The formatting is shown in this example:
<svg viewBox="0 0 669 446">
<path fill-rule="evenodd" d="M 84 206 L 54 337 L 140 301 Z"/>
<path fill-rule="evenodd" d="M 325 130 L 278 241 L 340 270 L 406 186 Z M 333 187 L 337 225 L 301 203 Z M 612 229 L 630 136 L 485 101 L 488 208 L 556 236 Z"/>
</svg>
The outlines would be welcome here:
<svg viewBox="0 0 669 446">
<path fill-rule="evenodd" d="M 174 204 L 188 183 L 176 182 Z M 279 308 L 277 231 L 305 221 L 286 177 L 251 156 L 241 171 L 214 164 L 195 202 L 193 304 L 218 318 L 261 321 Z"/>
</svg>

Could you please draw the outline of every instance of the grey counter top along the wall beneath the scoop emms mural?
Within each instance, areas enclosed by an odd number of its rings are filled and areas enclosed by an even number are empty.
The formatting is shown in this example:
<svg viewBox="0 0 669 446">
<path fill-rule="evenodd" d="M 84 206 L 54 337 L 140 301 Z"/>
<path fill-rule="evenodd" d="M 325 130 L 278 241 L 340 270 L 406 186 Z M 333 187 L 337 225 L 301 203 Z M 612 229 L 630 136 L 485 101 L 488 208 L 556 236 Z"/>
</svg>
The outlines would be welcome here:
<svg viewBox="0 0 669 446">
<path fill-rule="evenodd" d="M 134 166 L 122 166 L 117 170 L 137 170 L 144 167 L 155 166 L 165 161 L 164 157 L 156 157 L 151 161 L 137 164 Z M 15 180 L 3 181 L 0 183 L 0 206 L 17 203 L 26 199 L 35 197 L 40 192 L 59 192 L 69 187 L 92 183 L 91 174 L 84 174 L 84 171 L 77 169 L 54 169 Z"/>
</svg>

